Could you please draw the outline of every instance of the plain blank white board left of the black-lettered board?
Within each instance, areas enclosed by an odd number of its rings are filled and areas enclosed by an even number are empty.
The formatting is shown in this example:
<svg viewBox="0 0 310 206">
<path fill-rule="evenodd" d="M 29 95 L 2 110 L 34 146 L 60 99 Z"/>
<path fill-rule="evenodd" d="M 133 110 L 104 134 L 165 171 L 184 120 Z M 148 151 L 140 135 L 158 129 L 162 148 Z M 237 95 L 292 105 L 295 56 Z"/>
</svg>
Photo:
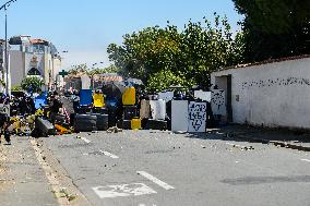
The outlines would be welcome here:
<svg viewBox="0 0 310 206">
<path fill-rule="evenodd" d="M 171 101 L 171 130 L 187 132 L 189 128 L 189 102 L 187 100 Z"/>
</svg>

